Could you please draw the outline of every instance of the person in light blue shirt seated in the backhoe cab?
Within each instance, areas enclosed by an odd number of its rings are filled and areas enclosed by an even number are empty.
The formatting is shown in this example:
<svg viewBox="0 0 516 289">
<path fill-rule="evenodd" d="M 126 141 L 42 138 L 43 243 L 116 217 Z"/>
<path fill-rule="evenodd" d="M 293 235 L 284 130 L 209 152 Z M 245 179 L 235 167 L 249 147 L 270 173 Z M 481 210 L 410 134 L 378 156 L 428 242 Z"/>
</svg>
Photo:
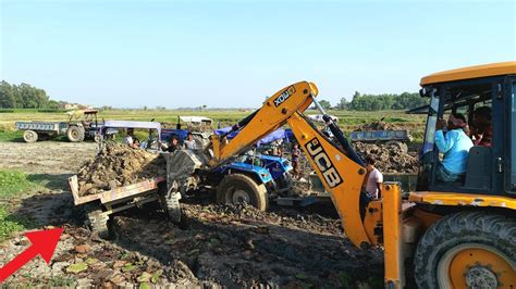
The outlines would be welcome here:
<svg viewBox="0 0 516 289">
<path fill-rule="evenodd" d="M 447 131 L 443 129 L 447 127 Z M 467 128 L 466 117 L 460 113 L 450 114 L 447 126 L 444 120 L 435 124 L 435 146 L 444 154 L 438 165 L 438 179 L 456 181 L 466 173 L 471 139 L 464 133 Z"/>
</svg>

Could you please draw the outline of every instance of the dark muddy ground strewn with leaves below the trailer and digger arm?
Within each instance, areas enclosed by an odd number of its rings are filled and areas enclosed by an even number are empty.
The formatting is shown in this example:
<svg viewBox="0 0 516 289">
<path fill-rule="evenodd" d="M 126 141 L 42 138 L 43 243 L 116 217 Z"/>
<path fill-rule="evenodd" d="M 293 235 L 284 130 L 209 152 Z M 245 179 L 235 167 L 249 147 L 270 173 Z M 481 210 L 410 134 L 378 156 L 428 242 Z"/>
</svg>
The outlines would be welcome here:
<svg viewBox="0 0 516 289">
<path fill-rule="evenodd" d="M 212 205 L 208 196 L 183 204 L 184 221 L 167 221 L 157 204 L 116 215 L 116 238 L 101 240 L 83 225 L 66 178 L 95 154 L 93 143 L 0 142 L 0 168 L 48 175 L 47 188 L 9 200 L 13 216 L 34 229 L 64 227 L 50 266 L 41 259 L 7 286 L 153 286 L 206 288 L 381 288 L 382 251 L 358 250 L 331 204 L 304 210 Z M 5 201 L 4 201 L 5 202 Z M 29 246 L 23 234 L 0 244 L 0 266 Z"/>
</svg>

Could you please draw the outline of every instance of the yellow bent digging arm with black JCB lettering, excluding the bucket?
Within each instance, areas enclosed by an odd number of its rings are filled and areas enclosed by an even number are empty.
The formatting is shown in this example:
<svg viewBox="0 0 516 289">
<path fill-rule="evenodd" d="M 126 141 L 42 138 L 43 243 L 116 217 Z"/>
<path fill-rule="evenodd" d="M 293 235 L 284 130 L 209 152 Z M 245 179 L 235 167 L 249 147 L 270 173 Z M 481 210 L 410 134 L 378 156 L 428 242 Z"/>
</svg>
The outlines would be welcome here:
<svg viewBox="0 0 516 289">
<path fill-rule="evenodd" d="M 238 130 L 238 134 L 231 141 L 225 136 L 212 136 L 213 159 L 210 165 L 226 162 L 274 129 L 288 124 L 325 189 L 331 192 L 347 237 L 355 246 L 363 247 L 371 243 L 360 217 L 359 204 L 366 169 L 330 117 L 325 121 L 341 147 L 323 136 L 303 115 L 311 103 L 325 115 L 315 99 L 317 95 L 316 85 L 307 81 L 278 91 L 261 109 L 233 127 L 232 131 Z"/>
</svg>

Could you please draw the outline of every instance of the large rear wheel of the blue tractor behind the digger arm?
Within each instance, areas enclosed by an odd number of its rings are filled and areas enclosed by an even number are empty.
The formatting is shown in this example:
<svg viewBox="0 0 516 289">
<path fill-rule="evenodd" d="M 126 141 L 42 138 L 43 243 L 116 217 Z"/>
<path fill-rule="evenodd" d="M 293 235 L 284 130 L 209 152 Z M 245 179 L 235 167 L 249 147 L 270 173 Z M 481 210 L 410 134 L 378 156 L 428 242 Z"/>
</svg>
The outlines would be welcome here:
<svg viewBox="0 0 516 289">
<path fill-rule="evenodd" d="M 248 203 L 260 211 L 269 208 L 269 198 L 263 184 L 242 174 L 226 175 L 217 189 L 217 202 L 222 204 Z"/>
</svg>

